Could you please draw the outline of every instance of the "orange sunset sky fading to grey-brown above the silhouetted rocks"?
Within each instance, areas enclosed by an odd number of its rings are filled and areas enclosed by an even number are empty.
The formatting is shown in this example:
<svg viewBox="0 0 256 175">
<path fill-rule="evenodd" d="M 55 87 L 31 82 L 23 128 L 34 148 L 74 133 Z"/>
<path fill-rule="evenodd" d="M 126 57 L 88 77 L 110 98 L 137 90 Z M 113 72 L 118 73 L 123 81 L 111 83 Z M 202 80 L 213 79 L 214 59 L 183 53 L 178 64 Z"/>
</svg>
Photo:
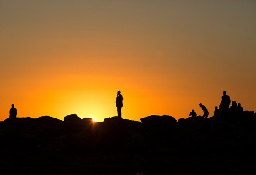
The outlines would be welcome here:
<svg viewBox="0 0 256 175">
<path fill-rule="evenodd" d="M 0 121 L 256 111 L 256 1 L 0 0 Z"/>
</svg>

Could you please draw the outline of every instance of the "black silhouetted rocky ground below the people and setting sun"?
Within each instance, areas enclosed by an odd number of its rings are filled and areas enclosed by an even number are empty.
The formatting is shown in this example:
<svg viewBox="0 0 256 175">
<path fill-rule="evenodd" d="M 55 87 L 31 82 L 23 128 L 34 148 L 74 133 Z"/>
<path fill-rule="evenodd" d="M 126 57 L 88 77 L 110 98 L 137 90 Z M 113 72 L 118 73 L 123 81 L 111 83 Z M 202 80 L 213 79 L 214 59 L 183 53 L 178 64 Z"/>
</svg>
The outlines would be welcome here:
<svg viewBox="0 0 256 175">
<path fill-rule="evenodd" d="M 214 122 L 212 122 L 214 120 Z M 1 174 L 255 174 L 256 116 L 0 123 Z"/>
</svg>

